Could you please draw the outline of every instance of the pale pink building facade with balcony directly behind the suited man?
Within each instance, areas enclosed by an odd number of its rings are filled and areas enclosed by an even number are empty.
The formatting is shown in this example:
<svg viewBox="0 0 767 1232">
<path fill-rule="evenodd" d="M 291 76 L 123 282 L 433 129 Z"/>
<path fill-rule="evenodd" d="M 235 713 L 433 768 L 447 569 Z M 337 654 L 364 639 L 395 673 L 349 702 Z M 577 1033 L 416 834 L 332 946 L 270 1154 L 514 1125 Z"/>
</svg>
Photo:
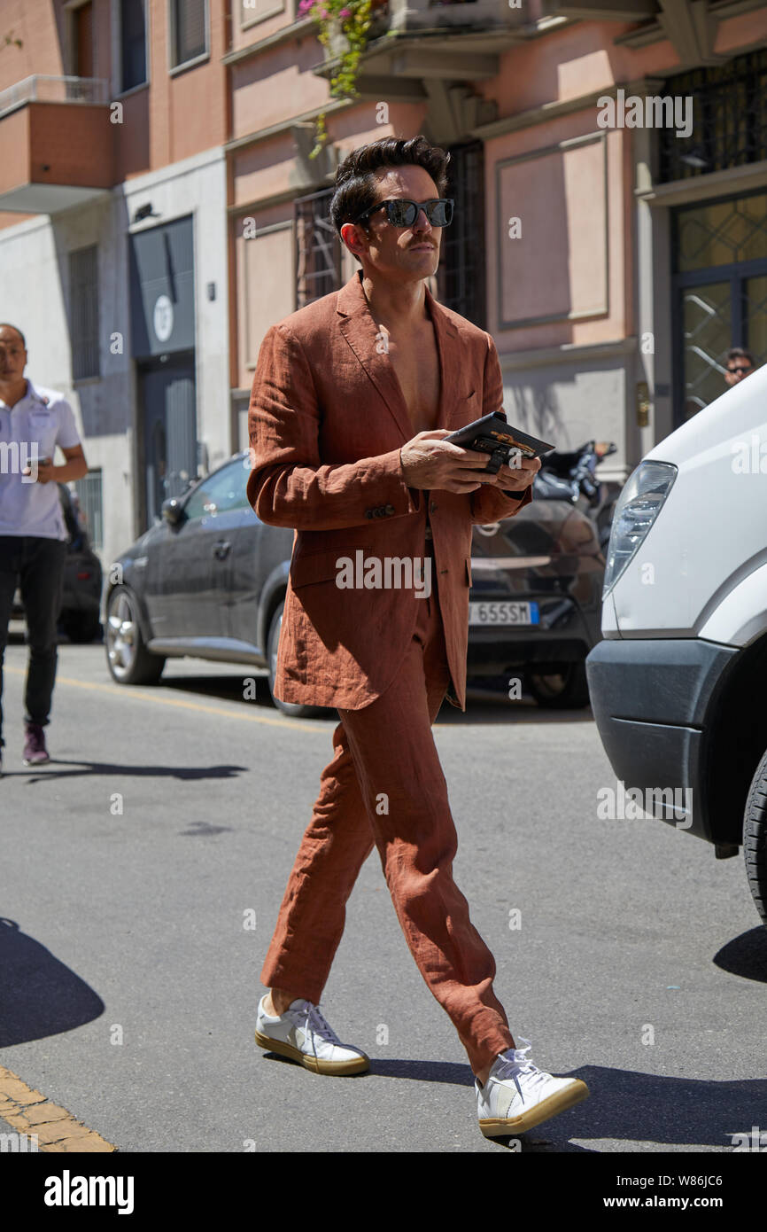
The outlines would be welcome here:
<svg viewBox="0 0 767 1232">
<path fill-rule="evenodd" d="M 606 478 L 724 392 L 730 346 L 767 360 L 767 5 L 389 0 L 358 99 L 329 101 L 293 4 L 235 5 L 225 57 L 243 442 L 263 333 L 355 269 L 332 170 L 389 133 L 451 150 L 437 292 L 492 334 L 507 414 L 614 440 Z"/>
</svg>

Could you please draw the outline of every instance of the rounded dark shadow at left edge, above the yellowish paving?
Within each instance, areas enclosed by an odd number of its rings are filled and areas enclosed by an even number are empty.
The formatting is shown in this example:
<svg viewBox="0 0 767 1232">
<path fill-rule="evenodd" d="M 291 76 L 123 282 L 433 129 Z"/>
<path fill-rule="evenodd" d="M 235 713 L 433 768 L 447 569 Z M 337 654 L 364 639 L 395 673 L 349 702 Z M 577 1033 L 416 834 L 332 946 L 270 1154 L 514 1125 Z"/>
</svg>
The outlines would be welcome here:
<svg viewBox="0 0 767 1232">
<path fill-rule="evenodd" d="M 71 1031 L 103 1014 L 94 989 L 50 950 L 0 917 L 0 1047 Z"/>
</svg>

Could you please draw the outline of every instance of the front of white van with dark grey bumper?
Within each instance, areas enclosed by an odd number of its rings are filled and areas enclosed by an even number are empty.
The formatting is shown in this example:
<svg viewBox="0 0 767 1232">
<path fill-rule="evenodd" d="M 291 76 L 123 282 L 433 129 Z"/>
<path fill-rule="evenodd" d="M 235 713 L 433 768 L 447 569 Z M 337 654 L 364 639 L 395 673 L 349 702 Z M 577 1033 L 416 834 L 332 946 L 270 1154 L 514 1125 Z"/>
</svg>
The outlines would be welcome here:
<svg viewBox="0 0 767 1232">
<path fill-rule="evenodd" d="M 624 798 L 719 859 L 742 845 L 767 924 L 767 366 L 630 476 L 602 637 L 586 671 Z"/>
</svg>

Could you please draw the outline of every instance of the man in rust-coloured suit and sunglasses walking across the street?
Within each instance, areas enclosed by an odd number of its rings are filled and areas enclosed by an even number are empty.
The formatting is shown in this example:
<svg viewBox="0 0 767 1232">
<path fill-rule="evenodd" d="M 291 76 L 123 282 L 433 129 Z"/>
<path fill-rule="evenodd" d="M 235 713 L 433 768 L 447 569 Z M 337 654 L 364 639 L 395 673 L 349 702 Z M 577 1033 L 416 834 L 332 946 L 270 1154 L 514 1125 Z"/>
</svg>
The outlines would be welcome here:
<svg viewBox="0 0 767 1232">
<path fill-rule="evenodd" d="M 341 722 L 261 972 L 256 1041 L 318 1073 L 368 1068 L 318 1003 L 377 846 L 408 945 L 467 1050 L 480 1129 L 497 1136 L 587 1092 L 516 1048 L 494 957 L 452 877 L 431 724 L 446 694 L 465 708 L 472 526 L 526 505 L 540 463 L 488 474 L 486 455 L 444 441 L 504 395 L 490 335 L 426 288 L 452 218 L 446 168 L 422 137 L 341 164 L 331 218 L 362 269 L 272 326 L 259 356 L 247 495 L 261 521 L 297 532 L 275 691 Z"/>
</svg>

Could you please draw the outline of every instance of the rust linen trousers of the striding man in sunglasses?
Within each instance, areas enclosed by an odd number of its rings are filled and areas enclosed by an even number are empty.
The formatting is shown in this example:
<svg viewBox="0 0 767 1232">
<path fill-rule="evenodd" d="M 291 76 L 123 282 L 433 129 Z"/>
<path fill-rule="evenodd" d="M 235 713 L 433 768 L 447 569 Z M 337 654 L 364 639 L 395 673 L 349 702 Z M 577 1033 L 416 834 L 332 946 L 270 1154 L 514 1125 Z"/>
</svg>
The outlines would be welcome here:
<svg viewBox="0 0 767 1232">
<path fill-rule="evenodd" d="M 419 599 L 415 632 L 394 683 L 362 710 L 339 710 L 335 755 L 320 776 L 261 981 L 319 1003 L 346 902 L 377 846 L 419 971 L 476 1073 L 512 1047 L 513 1037 L 492 991 L 495 960 L 452 876 L 458 838 L 431 732 L 449 684 L 433 556 L 431 575 L 432 593 Z M 383 795 L 388 812 L 377 812 Z"/>
</svg>

